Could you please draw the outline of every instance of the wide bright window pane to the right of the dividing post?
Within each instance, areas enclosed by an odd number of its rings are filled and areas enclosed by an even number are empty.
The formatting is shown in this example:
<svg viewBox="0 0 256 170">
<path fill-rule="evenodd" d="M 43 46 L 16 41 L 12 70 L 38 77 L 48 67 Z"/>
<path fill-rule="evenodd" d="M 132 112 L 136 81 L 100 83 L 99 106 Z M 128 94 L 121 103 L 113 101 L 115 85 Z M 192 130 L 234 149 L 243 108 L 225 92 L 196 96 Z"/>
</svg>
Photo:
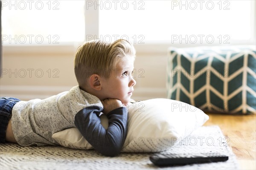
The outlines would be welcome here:
<svg viewBox="0 0 256 170">
<path fill-rule="evenodd" d="M 186 41 L 232 42 L 249 40 L 253 36 L 250 0 L 118 2 L 102 1 L 99 10 L 99 35 L 102 38 L 118 35 L 129 37 L 135 43 L 179 43 L 181 40 L 185 44 Z"/>
</svg>

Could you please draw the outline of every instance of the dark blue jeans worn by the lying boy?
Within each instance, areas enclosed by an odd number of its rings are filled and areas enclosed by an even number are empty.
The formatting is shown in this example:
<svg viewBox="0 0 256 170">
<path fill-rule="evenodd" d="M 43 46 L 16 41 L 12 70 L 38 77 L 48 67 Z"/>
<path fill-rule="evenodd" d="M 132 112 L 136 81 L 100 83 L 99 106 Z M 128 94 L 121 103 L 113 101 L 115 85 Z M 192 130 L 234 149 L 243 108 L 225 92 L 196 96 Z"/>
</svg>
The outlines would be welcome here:
<svg viewBox="0 0 256 170">
<path fill-rule="evenodd" d="M 12 108 L 19 101 L 19 99 L 13 97 L 0 98 L 0 143 L 6 142 L 6 129 L 12 117 Z"/>
</svg>

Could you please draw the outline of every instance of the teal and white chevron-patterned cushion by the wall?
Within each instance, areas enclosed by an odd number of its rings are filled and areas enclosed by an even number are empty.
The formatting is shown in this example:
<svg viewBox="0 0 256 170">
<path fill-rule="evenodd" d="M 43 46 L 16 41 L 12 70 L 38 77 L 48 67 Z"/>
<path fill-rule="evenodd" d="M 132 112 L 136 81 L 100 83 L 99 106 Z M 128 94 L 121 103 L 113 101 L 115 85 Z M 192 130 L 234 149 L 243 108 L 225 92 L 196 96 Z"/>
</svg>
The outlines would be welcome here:
<svg viewBox="0 0 256 170">
<path fill-rule="evenodd" d="M 169 48 L 167 90 L 206 112 L 256 114 L 256 47 Z"/>
</svg>

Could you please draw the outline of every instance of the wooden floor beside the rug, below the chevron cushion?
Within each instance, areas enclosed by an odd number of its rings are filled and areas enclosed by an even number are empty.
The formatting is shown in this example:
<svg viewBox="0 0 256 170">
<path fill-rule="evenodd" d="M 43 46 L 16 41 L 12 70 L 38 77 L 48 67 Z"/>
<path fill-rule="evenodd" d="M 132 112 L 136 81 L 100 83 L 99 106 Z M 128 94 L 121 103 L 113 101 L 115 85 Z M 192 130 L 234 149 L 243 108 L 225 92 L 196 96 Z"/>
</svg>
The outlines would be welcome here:
<svg viewBox="0 0 256 170">
<path fill-rule="evenodd" d="M 230 141 L 230 147 L 242 170 L 256 170 L 256 115 L 224 115 L 207 113 L 204 124 L 218 125 Z"/>
</svg>

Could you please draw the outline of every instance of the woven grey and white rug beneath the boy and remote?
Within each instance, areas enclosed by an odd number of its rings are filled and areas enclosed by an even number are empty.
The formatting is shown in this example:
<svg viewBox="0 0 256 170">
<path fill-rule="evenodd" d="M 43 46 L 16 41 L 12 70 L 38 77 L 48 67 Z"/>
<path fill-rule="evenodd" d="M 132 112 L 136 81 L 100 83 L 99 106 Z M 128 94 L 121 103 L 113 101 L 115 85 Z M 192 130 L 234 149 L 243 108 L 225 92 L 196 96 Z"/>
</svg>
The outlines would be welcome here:
<svg viewBox="0 0 256 170">
<path fill-rule="evenodd" d="M 0 170 L 84 170 L 84 169 L 238 169 L 236 156 L 218 126 L 198 128 L 185 140 L 165 152 L 189 153 L 219 151 L 229 160 L 217 163 L 192 164 L 174 167 L 156 167 L 149 160 L 152 153 L 121 153 L 106 157 L 96 150 L 74 150 L 65 147 L 20 147 L 17 144 L 0 144 Z"/>
</svg>

